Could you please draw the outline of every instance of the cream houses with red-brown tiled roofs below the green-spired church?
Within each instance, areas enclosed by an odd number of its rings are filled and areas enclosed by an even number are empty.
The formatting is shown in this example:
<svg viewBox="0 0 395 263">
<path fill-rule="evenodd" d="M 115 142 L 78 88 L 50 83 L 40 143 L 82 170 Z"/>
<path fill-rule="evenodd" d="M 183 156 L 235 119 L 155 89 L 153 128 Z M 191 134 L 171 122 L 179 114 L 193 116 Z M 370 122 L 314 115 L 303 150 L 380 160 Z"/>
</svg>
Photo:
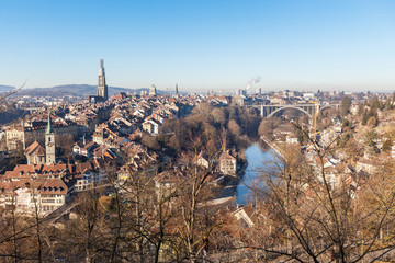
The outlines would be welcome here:
<svg viewBox="0 0 395 263">
<path fill-rule="evenodd" d="M 78 192 L 106 180 L 104 162 L 78 164 L 18 164 L 0 175 L 0 207 L 19 214 L 45 216 L 70 201 Z"/>
</svg>

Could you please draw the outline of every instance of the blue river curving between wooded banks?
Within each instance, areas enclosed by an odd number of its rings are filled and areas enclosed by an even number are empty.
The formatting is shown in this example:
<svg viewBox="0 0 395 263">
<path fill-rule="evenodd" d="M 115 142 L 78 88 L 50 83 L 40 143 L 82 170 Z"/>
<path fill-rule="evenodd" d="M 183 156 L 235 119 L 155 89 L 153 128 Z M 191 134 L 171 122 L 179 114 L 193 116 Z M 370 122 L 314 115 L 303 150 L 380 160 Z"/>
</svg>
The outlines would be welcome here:
<svg viewBox="0 0 395 263">
<path fill-rule="evenodd" d="M 248 165 L 245 174 L 237 185 L 237 204 L 245 205 L 248 202 L 253 201 L 253 194 L 247 185 L 257 184 L 260 182 L 258 171 L 268 171 L 270 167 L 273 167 L 273 162 L 279 161 L 276 153 L 268 149 L 262 149 L 259 144 L 249 146 L 245 150 Z"/>
</svg>

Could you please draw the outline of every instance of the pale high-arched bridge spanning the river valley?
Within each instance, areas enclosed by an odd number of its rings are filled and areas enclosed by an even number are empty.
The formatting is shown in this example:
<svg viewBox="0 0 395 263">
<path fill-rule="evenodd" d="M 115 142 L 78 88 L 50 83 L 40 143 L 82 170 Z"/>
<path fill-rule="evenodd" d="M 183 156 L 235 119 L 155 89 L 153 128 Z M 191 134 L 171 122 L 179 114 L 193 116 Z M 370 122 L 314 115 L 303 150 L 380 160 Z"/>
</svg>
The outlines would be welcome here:
<svg viewBox="0 0 395 263">
<path fill-rule="evenodd" d="M 278 112 L 281 112 L 286 108 L 294 108 L 309 117 L 314 116 L 315 106 L 317 105 L 318 111 L 323 111 L 328 107 L 338 107 L 339 104 L 318 104 L 318 103 L 308 103 L 308 104 L 268 104 L 268 105 L 249 105 L 249 107 L 255 107 L 260 111 L 262 117 L 271 117 Z"/>
</svg>

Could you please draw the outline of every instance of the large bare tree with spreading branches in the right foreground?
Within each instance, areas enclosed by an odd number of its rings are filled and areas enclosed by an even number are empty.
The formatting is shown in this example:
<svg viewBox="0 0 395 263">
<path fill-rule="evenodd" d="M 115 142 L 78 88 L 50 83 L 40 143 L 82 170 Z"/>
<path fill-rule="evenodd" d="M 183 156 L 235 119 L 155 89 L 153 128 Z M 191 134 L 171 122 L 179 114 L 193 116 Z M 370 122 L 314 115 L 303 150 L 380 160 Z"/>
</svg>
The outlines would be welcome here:
<svg viewBox="0 0 395 263">
<path fill-rule="evenodd" d="M 395 248 L 392 233 L 383 238 L 383 228 L 394 224 L 393 170 L 386 165 L 391 172 L 379 168 L 381 176 L 362 176 L 347 173 L 345 165 L 329 169 L 329 149 L 307 138 L 313 162 L 289 151 L 261 172 L 263 183 L 252 188 L 266 215 L 266 231 L 257 224 L 245 243 L 298 262 L 374 261 L 390 253 Z M 257 233 L 260 238 L 253 238 Z"/>
</svg>

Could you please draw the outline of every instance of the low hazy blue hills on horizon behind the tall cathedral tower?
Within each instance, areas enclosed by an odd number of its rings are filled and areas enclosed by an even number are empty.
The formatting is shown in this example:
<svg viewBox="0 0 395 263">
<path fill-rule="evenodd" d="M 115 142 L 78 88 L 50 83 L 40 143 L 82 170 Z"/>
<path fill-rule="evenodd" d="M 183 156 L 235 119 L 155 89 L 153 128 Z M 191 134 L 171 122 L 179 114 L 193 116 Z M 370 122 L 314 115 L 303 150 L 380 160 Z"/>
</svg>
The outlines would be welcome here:
<svg viewBox="0 0 395 263">
<path fill-rule="evenodd" d="M 139 89 L 127 89 L 120 87 L 109 87 L 109 96 L 117 94 L 120 92 L 129 92 L 132 94 L 139 94 L 142 90 L 148 90 L 147 88 Z M 95 95 L 98 93 L 97 85 L 89 84 L 67 84 L 67 85 L 55 85 L 52 88 L 34 88 L 34 89 L 24 89 L 19 94 L 20 95 L 34 95 L 34 96 L 89 96 Z"/>
</svg>

